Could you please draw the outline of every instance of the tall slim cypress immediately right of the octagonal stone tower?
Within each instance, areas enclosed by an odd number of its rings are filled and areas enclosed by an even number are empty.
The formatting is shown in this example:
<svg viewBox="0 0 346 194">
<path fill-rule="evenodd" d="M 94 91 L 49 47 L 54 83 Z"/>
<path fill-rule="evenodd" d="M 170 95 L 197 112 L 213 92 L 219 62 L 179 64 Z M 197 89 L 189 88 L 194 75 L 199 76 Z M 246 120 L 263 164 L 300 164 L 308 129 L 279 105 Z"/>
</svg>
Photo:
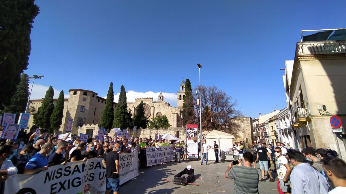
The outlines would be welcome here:
<svg viewBox="0 0 346 194">
<path fill-rule="evenodd" d="M 113 91 L 113 82 L 109 84 L 106 106 L 104 107 L 101 115 L 101 127 L 108 129 L 112 128 L 113 119 L 114 119 L 114 91 Z"/>
</svg>

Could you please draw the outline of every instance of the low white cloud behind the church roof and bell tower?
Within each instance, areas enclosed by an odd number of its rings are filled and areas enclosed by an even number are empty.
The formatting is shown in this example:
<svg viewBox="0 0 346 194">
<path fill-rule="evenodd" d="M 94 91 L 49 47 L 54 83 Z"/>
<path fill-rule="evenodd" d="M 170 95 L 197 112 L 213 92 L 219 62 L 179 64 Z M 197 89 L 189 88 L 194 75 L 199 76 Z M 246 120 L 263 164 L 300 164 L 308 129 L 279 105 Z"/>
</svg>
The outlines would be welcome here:
<svg viewBox="0 0 346 194">
<path fill-rule="evenodd" d="M 114 95 L 114 101 L 117 103 L 119 100 L 120 93 L 117 93 Z M 158 95 L 160 95 L 160 92 L 153 92 L 153 91 L 146 91 L 146 92 L 139 92 L 134 90 L 128 90 L 126 92 L 126 99 L 127 102 L 134 102 L 135 98 L 153 98 L 154 101 L 158 100 Z M 164 101 L 170 103 L 171 106 L 176 107 L 176 94 L 175 93 L 167 93 L 162 92 Z M 107 98 L 107 96 L 104 96 L 103 98 Z"/>
</svg>

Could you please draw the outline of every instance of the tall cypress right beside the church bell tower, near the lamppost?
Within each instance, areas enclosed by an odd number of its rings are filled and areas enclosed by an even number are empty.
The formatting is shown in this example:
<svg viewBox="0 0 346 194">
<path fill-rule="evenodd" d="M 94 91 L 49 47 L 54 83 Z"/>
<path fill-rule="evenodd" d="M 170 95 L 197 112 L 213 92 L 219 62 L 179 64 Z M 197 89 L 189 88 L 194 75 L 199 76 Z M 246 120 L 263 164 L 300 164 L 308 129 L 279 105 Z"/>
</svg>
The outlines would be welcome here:
<svg viewBox="0 0 346 194">
<path fill-rule="evenodd" d="M 189 79 L 185 80 L 185 97 L 184 97 L 184 103 L 183 103 L 183 112 L 182 112 L 182 125 L 183 127 L 186 126 L 186 124 L 193 124 L 195 123 L 195 113 L 194 113 L 194 104 L 193 104 L 193 96 L 192 96 L 192 89 L 191 89 L 191 82 Z"/>
</svg>

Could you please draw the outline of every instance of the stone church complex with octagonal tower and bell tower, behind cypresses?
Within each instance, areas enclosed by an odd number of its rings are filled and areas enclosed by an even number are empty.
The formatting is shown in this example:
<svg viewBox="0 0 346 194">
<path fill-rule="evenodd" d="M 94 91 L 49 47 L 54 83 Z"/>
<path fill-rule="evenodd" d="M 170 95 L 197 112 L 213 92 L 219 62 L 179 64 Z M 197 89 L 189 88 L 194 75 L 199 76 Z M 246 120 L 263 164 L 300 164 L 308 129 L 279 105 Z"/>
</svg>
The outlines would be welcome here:
<svg viewBox="0 0 346 194">
<path fill-rule="evenodd" d="M 180 90 L 177 91 L 177 107 L 172 107 L 168 102 L 164 101 L 162 92 L 158 96 L 157 101 L 153 101 L 153 98 L 136 98 L 134 102 L 127 103 L 127 107 L 131 110 L 133 116 L 136 114 L 136 110 L 141 100 L 143 100 L 143 107 L 145 110 L 145 116 L 151 120 L 156 116 L 165 115 L 172 128 L 182 127 L 181 114 L 184 98 L 184 81 L 181 82 Z M 100 126 L 101 114 L 106 106 L 106 99 L 97 96 L 98 94 L 91 90 L 84 89 L 70 89 L 70 96 L 65 99 L 64 102 L 64 116 L 62 119 L 62 125 L 57 133 L 65 133 L 67 120 L 72 118 L 72 134 L 79 134 L 81 127 L 86 126 L 86 131 L 82 133 L 94 134 L 95 126 Z M 54 99 L 54 105 L 56 104 Z M 28 127 L 33 126 L 33 115 L 41 106 L 43 99 L 30 100 L 29 110 L 30 118 Z M 113 103 L 113 107 L 116 107 L 117 103 Z M 93 126 L 88 128 L 88 126 Z M 116 126 L 114 126 L 116 127 Z"/>
</svg>

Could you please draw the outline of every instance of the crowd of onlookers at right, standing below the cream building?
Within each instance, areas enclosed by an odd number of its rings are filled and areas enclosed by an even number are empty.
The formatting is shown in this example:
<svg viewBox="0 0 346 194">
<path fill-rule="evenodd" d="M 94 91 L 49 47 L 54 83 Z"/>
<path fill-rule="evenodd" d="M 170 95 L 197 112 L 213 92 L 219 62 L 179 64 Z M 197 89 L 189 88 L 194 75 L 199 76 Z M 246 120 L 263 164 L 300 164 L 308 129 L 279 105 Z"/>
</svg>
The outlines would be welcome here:
<svg viewBox="0 0 346 194">
<path fill-rule="evenodd" d="M 267 180 L 265 173 L 269 182 L 275 182 L 272 172 L 277 172 L 280 194 L 346 193 L 346 163 L 335 151 L 307 147 L 300 152 L 281 142 L 276 146 L 253 142 L 252 153 L 244 152 L 238 162 L 230 162 L 225 177 L 234 179 L 235 193 L 258 193 L 258 182 Z"/>
</svg>

